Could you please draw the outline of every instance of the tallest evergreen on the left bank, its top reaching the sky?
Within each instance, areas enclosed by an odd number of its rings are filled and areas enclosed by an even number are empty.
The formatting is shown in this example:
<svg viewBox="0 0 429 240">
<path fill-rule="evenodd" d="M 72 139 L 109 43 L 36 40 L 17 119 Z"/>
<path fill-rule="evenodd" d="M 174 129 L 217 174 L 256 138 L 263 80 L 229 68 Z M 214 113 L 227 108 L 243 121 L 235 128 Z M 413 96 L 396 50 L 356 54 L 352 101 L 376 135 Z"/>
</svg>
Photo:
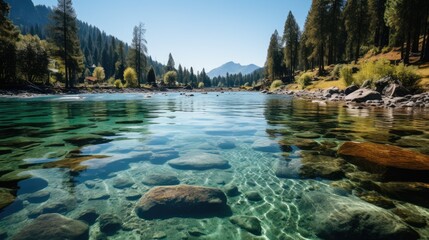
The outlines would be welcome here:
<svg viewBox="0 0 429 240">
<path fill-rule="evenodd" d="M 77 73 L 82 70 L 83 54 L 80 49 L 76 13 L 71 0 L 58 0 L 49 26 L 51 41 L 58 47 L 56 55 L 64 61 L 65 85 L 72 87 Z"/>
</svg>

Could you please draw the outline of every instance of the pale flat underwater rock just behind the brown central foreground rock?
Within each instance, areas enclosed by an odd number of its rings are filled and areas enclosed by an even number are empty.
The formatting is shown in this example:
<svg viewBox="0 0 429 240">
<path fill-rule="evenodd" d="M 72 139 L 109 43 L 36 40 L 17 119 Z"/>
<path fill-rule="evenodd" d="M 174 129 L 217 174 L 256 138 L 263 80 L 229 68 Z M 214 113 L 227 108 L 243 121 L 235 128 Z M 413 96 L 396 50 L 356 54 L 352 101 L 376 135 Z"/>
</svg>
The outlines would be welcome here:
<svg viewBox="0 0 429 240">
<path fill-rule="evenodd" d="M 181 170 L 227 169 L 231 167 L 228 161 L 223 160 L 219 155 L 210 153 L 190 153 L 171 160 L 168 164 L 173 168 Z"/>
</svg>

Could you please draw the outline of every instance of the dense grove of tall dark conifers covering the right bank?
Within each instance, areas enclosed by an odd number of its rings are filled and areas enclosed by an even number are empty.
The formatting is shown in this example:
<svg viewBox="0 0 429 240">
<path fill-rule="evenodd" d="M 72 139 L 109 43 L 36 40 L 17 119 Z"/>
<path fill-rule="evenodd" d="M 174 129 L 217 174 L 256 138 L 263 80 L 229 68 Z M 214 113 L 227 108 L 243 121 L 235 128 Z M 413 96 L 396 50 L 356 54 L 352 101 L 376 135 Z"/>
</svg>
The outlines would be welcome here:
<svg viewBox="0 0 429 240">
<path fill-rule="evenodd" d="M 313 0 L 304 29 L 289 12 L 282 34 L 270 39 L 266 76 L 294 80 L 296 70 L 357 63 L 364 54 L 399 48 L 401 61 L 410 56 L 429 60 L 429 1 L 426 0 Z"/>
</svg>

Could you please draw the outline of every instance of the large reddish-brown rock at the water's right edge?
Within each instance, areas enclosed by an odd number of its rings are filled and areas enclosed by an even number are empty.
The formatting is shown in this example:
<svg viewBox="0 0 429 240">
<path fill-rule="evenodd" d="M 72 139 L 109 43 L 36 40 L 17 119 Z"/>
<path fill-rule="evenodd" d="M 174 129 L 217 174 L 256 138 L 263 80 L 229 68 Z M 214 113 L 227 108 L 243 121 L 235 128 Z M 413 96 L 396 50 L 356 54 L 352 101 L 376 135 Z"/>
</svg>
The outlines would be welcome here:
<svg viewBox="0 0 429 240">
<path fill-rule="evenodd" d="M 429 156 L 396 146 L 346 142 L 338 154 L 369 171 L 382 174 L 385 180 L 429 181 Z"/>
</svg>

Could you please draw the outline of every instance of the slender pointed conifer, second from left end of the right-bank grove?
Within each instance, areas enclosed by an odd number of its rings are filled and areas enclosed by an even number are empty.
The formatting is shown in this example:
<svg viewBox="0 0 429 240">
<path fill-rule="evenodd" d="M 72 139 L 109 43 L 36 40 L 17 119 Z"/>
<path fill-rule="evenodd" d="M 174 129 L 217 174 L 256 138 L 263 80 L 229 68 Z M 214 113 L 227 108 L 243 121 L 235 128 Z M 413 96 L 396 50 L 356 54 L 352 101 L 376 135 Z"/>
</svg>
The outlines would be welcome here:
<svg viewBox="0 0 429 240">
<path fill-rule="evenodd" d="M 288 69 L 291 81 L 293 80 L 294 72 L 298 64 L 299 36 L 300 31 L 298 23 L 296 22 L 292 12 L 289 11 L 283 32 L 283 42 L 285 43 L 284 63 Z"/>
</svg>

